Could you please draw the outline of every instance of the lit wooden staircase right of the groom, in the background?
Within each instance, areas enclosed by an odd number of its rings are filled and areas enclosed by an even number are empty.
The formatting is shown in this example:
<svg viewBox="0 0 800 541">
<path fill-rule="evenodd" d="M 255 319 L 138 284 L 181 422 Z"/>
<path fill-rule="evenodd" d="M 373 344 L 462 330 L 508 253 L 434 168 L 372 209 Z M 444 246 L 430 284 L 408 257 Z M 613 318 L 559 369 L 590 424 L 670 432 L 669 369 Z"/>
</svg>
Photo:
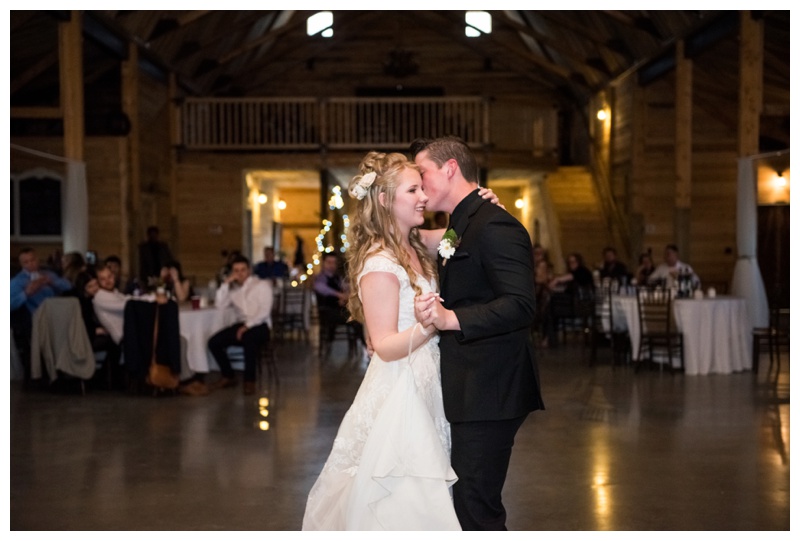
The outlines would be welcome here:
<svg viewBox="0 0 800 541">
<path fill-rule="evenodd" d="M 566 166 L 548 175 L 543 186 L 557 220 L 559 249 L 550 249 L 552 256 L 566 257 L 571 252 L 583 256 L 586 266 L 593 269 L 603 259 L 603 248 L 614 246 L 613 235 L 604 216 L 600 197 L 586 167 Z M 622 256 L 624 250 L 614 246 Z M 564 272 L 563 261 L 553 260 L 556 272 Z"/>
</svg>

